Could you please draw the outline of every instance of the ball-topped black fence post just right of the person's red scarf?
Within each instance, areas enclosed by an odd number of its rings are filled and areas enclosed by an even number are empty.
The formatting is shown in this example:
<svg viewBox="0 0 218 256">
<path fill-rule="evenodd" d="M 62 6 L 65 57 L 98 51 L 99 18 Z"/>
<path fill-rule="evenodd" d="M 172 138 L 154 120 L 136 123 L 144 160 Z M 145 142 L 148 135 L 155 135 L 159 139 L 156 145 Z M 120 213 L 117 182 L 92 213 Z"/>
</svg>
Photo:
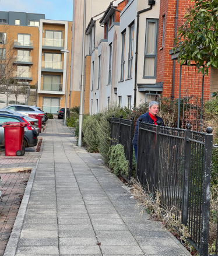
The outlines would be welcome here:
<svg viewBox="0 0 218 256">
<path fill-rule="evenodd" d="M 155 142 L 155 171 L 154 171 L 154 191 L 158 188 L 158 174 L 159 174 L 159 158 L 160 158 L 160 125 L 161 121 L 157 121 L 157 129 L 156 129 L 156 142 Z"/>
</svg>

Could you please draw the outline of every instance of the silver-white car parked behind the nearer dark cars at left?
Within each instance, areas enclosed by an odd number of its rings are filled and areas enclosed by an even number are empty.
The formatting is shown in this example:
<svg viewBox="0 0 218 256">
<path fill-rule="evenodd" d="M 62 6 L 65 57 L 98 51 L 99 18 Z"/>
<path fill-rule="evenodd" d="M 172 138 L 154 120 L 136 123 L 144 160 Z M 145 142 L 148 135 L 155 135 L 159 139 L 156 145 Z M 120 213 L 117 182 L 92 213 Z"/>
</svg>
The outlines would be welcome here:
<svg viewBox="0 0 218 256">
<path fill-rule="evenodd" d="M 40 107 L 12 104 L 12 105 L 10 105 L 8 107 L 5 107 L 3 109 L 14 110 L 14 111 L 16 111 L 20 114 L 24 114 L 24 115 L 30 115 L 30 114 L 43 115 L 43 122 L 46 121 L 45 120 L 45 113 L 41 110 Z"/>
</svg>

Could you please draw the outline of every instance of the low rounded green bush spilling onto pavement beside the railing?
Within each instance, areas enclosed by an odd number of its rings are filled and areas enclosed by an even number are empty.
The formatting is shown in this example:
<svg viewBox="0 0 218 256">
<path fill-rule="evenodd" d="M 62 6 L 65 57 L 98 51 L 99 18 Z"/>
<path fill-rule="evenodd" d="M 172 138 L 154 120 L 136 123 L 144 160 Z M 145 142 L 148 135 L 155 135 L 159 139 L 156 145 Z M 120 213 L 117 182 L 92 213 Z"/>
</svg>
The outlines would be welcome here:
<svg viewBox="0 0 218 256">
<path fill-rule="evenodd" d="M 108 156 L 110 159 L 108 163 L 112 172 L 117 176 L 119 176 L 119 174 L 128 176 L 129 162 L 125 157 L 124 146 L 121 144 L 111 146 L 108 150 Z"/>
</svg>

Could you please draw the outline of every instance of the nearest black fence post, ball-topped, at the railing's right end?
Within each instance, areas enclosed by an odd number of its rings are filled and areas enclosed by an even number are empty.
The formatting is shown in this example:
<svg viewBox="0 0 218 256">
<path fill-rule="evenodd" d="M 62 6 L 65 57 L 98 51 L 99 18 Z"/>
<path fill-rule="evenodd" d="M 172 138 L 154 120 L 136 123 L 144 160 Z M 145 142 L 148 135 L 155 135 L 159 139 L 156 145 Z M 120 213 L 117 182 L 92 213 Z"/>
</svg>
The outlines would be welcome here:
<svg viewBox="0 0 218 256">
<path fill-rule="evenodd" d="M 201 225 L 201 256 L 208 256 L 209 214 L 210 214 L 210 178 L 213 150 L 213 129 L 206 128 L 205 164 L 203 167 L 202 225 Z"/>
</svg>

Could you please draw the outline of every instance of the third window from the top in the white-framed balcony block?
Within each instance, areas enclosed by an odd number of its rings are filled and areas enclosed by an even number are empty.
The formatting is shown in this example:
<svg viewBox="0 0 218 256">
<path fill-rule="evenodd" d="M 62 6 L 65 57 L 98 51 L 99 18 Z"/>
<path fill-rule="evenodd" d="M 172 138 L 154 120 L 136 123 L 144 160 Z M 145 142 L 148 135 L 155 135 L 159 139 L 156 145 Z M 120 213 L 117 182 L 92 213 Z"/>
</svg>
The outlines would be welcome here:
<svg viewBox="0 0 218 256">
<path fill-rule="evenodd" d="M 44 75 L 43 76 L 43 90 L 52 90 L 62 92 L 61 76 L 58 75 Z"/>
</svg>

